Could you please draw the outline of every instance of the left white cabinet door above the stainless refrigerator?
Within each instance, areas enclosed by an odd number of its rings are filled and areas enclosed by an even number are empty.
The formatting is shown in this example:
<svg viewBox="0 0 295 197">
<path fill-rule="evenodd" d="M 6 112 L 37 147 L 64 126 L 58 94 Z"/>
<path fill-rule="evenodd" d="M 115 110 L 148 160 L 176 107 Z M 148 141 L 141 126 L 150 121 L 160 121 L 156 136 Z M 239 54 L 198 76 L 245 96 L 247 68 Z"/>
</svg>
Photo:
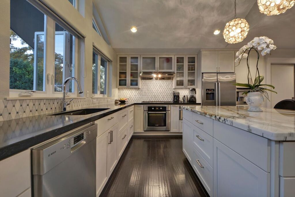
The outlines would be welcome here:
<svg viewBox="0 0 295 197">
<path fill-rule="evenodd" d="M 202 72 L 217 72 L 218 51 L 202 51 Z"/>
</svg>

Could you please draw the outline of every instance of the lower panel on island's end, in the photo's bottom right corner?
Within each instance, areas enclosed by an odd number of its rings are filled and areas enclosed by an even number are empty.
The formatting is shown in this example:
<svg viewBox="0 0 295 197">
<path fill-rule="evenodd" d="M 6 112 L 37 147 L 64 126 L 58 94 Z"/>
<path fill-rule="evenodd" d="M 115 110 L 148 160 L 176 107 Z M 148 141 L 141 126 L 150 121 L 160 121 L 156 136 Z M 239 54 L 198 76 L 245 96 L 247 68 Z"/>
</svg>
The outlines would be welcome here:
<svg viewBox="0 0 295 197">
<path fill-rule="evenodd" d="M 295 177 L 280 177 L 280 197 L 294 196 Z"/>
</svg>

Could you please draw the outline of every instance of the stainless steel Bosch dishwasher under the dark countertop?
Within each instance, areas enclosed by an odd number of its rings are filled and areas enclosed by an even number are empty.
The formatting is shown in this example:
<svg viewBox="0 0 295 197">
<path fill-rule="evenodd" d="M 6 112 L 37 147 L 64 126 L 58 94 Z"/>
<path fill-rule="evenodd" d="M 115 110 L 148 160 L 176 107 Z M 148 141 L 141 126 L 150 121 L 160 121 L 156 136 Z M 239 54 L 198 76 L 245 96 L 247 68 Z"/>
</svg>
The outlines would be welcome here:
<svg viewBox="0 0 295 197">
<path fill-rule="evenodd" d="M 34 196 L 96 196 L 97 124 L 32 150 Z"/>
</svg>

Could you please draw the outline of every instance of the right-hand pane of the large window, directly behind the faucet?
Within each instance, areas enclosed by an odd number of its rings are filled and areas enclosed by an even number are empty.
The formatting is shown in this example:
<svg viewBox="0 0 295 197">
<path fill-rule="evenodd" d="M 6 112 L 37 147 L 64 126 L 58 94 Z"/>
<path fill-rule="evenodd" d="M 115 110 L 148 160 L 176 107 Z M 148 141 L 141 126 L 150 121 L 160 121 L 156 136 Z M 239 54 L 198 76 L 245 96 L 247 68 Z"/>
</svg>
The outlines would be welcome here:
<svg viewBox="0 0 295 197">
<path fill-rule="evenodd" d="M 55 23 L 55 64 L 54 91 L 63 91 L 63 82 L 75 76 L 75 37 L 63 27 Z M 67 83 L 66 92 L 73 92 L 73 81 Z"/>
</svg>

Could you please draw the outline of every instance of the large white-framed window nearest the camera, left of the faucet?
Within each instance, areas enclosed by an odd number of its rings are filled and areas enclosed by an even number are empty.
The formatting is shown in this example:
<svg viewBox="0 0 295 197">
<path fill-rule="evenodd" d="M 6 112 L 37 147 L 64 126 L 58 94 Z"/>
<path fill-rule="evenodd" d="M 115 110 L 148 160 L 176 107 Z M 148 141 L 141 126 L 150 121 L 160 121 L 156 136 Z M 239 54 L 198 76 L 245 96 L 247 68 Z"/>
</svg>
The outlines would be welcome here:
<svg viewBox="0 0 295 197">
<path fill-rule="evenodd" d="M 24 91 L 34 91 L 36 97 L 58 92 L 59 97 L 64 80 L 76 75 L 77 34 L 60 18 L 44 13 L 28 1 L 10 0 L 10 97 Z M 75 85 L 67 83 L 71 96 Z"/>
</svg>

